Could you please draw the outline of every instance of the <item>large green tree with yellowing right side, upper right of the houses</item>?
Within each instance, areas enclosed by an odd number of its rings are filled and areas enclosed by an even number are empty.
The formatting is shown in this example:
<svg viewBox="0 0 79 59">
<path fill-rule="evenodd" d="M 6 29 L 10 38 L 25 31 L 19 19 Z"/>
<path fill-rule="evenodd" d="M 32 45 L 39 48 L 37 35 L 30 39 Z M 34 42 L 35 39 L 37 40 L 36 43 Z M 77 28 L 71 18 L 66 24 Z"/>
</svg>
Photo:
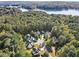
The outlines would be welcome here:
<svg viewBox="0 0 79 59">
<path fill-rule="evenodd" d="M 56 25 L 52 27 L 52 36 L 55 36 L 59 40 L 59 44 L 62 47 L 66 43 L 75 39 L 75 36 L 71 33 L 68 25 L 64 24 L 64 21 L 56 21 Z"/>
</svg>

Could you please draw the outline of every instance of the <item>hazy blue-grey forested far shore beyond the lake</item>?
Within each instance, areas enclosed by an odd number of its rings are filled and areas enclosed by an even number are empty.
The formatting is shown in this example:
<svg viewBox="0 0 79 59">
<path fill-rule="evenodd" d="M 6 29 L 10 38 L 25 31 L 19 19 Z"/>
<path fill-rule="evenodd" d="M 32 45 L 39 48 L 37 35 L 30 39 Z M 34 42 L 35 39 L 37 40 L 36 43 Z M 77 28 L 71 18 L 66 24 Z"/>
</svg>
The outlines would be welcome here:
<svg viewBox="0 0 79 59">
<path fill-rule="evenodd" d="M 1 1 L 0 6 L 17 6 L 25 9 L 44 9 L 44 10 L 63 10 L 63 9 L 79 9 L 79 2 L 64 2 L 64 1 Z"/>
</svg>

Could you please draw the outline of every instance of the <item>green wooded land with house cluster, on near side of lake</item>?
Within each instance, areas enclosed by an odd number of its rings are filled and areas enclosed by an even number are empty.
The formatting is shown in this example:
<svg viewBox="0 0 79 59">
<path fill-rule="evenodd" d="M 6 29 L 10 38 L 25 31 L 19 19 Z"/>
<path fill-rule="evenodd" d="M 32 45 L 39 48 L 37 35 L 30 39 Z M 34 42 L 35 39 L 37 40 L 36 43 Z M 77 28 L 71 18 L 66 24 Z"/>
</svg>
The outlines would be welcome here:
<svg viewBox="0 0 79 59">
<path fill-rule="evenodd" d="M 52 47 L 55 56 L 79 56 L 79 16 L 40 11 L 0 14 L 0 57 L 48 57 Z"/>
</svg>

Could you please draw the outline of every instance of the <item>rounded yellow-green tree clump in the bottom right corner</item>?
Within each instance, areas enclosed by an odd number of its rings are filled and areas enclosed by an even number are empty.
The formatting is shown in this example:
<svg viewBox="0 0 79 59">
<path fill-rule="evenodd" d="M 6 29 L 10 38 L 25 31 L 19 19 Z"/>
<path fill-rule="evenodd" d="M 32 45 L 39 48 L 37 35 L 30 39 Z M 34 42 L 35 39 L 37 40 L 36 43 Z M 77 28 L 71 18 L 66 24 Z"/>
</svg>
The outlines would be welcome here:
<svg viewBox="0 0 79 59">
<path fill-rule="evenodd" d="M 72 40 L 71 42 L 64 45 L 59 51 L 58 56 L 65 56 L 65 57 L 76 57 L 78 55 L 78 46 L 79 41 Z"/>
</svg>

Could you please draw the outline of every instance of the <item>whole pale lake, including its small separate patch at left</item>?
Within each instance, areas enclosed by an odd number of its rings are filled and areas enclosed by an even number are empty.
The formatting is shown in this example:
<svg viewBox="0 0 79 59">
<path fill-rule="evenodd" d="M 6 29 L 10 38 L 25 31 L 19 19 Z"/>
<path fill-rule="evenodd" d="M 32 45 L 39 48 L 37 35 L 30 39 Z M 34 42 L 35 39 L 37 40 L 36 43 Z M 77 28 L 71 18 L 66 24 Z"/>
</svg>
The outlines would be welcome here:
<svg viewBox="0 0 79 59">
<path fill-rule="evenodd" d="M 28 12 L 28 9 L 20 8 L 22 12 Z M 43 11 L 47 14 L 64 14 L 64 15 L 72 15 L 72 16 L 79 16 L 79 10 L 76 9 L 68 9 L 68 10 L 61 10 L 61 11 L 49 11 L 49 10 L 42 10 L 42 9 L 34 9 L 33 11 Z"/>
</svg>

